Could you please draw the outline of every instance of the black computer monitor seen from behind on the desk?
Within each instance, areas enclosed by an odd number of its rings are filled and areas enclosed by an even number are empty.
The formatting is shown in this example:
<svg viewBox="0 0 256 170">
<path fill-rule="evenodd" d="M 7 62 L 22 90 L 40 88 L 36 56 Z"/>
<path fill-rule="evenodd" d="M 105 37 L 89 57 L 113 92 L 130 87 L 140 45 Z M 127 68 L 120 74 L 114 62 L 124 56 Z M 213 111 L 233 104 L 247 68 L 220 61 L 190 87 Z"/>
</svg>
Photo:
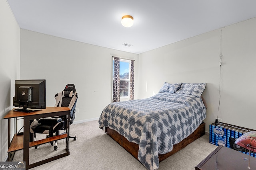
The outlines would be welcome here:
<svg viewBox="0 0 256 170">
<path fill-rule="evenodd" d="M 32 112 L 46 108 L 45 80 L 15 80 L 14 111 Z M 30 108 L 30 109 L 27 109 Z"/>
</svg>

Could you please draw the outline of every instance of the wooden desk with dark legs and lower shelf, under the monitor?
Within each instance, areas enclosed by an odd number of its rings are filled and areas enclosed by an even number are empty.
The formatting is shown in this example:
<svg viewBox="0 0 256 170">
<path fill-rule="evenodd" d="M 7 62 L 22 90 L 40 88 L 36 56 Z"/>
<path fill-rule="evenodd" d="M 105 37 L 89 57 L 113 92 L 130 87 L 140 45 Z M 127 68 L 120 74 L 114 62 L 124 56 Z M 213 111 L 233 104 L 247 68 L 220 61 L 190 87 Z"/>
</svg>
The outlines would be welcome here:
<svg viewBox="0 0 256 170">
<path fill-rule="evenodd" d="M 65 116 L 65 126 L 66 133 L 63 135 L 58 135 L 46 139 L 42 139 L 39 141 L 33 141 L 33 134 L 30 133 L 30 123 L 34 119 L 39 119 L 43 117 L 53 117 L 53 116 Z M 24 135 L 14 135 L 12 141 L 10 141 L 10 119 L 23 117 L 24 124 Z M 13 109 L 4 116 L 4 119 L 8 119 L 8 161 L 10 160 L 10 155 L 12 152 L 16 150 L 23 149 L 23 161 L 26 162 L 26 169 L 34 168 L 35 166 L 39 166 L 50 162 L 52 160 L 56 160 L 58 158 L 62 158 L 64 156 L 68 156 L 69 153 L 69 119 L 70 119 L 70 109 L 68 107 L 46 107 L 46 109 L 42 109 L 39 111 L 34 111 L 31 113 L 24 113 L 13 111 Z M 32 135 L 31 135 L 32 134 Z M 31 139 L 32 138 L 32 139 Z M 62 153 L 60 155 L 54 156 L 52 158 L 47 158 L 45 160 L 41 160 L 39 162 L 35 162 L 33 164 L 29 164 L 29 148 L 37 145 L 42 145 L 44 143 L 49 143 L 51 141 L 56 141 L 60 139 L 66 139 L 66 153 Z"/>
</svg>

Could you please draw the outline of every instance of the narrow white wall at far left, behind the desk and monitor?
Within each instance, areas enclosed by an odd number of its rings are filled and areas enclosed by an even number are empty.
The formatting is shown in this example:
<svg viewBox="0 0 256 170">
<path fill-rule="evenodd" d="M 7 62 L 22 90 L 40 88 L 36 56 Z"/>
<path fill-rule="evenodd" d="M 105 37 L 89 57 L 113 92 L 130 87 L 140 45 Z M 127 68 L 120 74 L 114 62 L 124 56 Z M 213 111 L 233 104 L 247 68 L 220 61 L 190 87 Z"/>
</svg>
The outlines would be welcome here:
<svg viewBox="0 0 256 170">
<path fill-rule="evenodd" d="M 0 59 L 0 161 L 4 161 L 8 120 L 3 117 L 13 108 L 14 82 L 20 78 L 20 27 L 6 0 L 0 0 Z"/>
</svg>

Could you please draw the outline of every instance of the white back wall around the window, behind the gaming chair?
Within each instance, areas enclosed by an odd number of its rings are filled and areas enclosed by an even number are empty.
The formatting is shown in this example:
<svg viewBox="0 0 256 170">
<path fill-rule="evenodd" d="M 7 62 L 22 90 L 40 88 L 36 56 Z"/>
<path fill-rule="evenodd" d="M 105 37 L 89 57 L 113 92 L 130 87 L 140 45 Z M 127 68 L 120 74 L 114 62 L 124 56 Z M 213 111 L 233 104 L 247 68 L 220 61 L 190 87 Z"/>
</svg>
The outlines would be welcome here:
<svg viewBox="0 0 256 170">
<path fill-rule="evenodd" d="M 54 106 L 54 95 L 66 84 L 75 84 L 79 109 L 76 122 L 100 117 L 112 102 L 112 56 L 134 59 L 135 72 L 138 70 L 137 54 L 25 29 L 20 30 L 20 39 L 21 79 L 46 79 L 46 106 Z M 138 89 L 137 76 L 134 81 Z"/>
</svg>

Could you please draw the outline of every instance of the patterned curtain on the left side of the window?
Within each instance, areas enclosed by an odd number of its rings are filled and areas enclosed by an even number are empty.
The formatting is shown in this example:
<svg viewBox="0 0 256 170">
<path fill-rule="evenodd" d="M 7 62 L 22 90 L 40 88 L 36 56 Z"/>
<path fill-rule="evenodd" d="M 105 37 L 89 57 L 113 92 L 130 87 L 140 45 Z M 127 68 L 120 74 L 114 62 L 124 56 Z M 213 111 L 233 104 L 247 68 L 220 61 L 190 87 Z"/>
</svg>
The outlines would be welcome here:
<svg viewBox="0 0 256 170">
<path fill-rule="evenodd" d="M 113 81 L 113 102 L 120 101 L 120 60 L 118 57 L 114 59 L 114 81 Z"/>
</svg>

